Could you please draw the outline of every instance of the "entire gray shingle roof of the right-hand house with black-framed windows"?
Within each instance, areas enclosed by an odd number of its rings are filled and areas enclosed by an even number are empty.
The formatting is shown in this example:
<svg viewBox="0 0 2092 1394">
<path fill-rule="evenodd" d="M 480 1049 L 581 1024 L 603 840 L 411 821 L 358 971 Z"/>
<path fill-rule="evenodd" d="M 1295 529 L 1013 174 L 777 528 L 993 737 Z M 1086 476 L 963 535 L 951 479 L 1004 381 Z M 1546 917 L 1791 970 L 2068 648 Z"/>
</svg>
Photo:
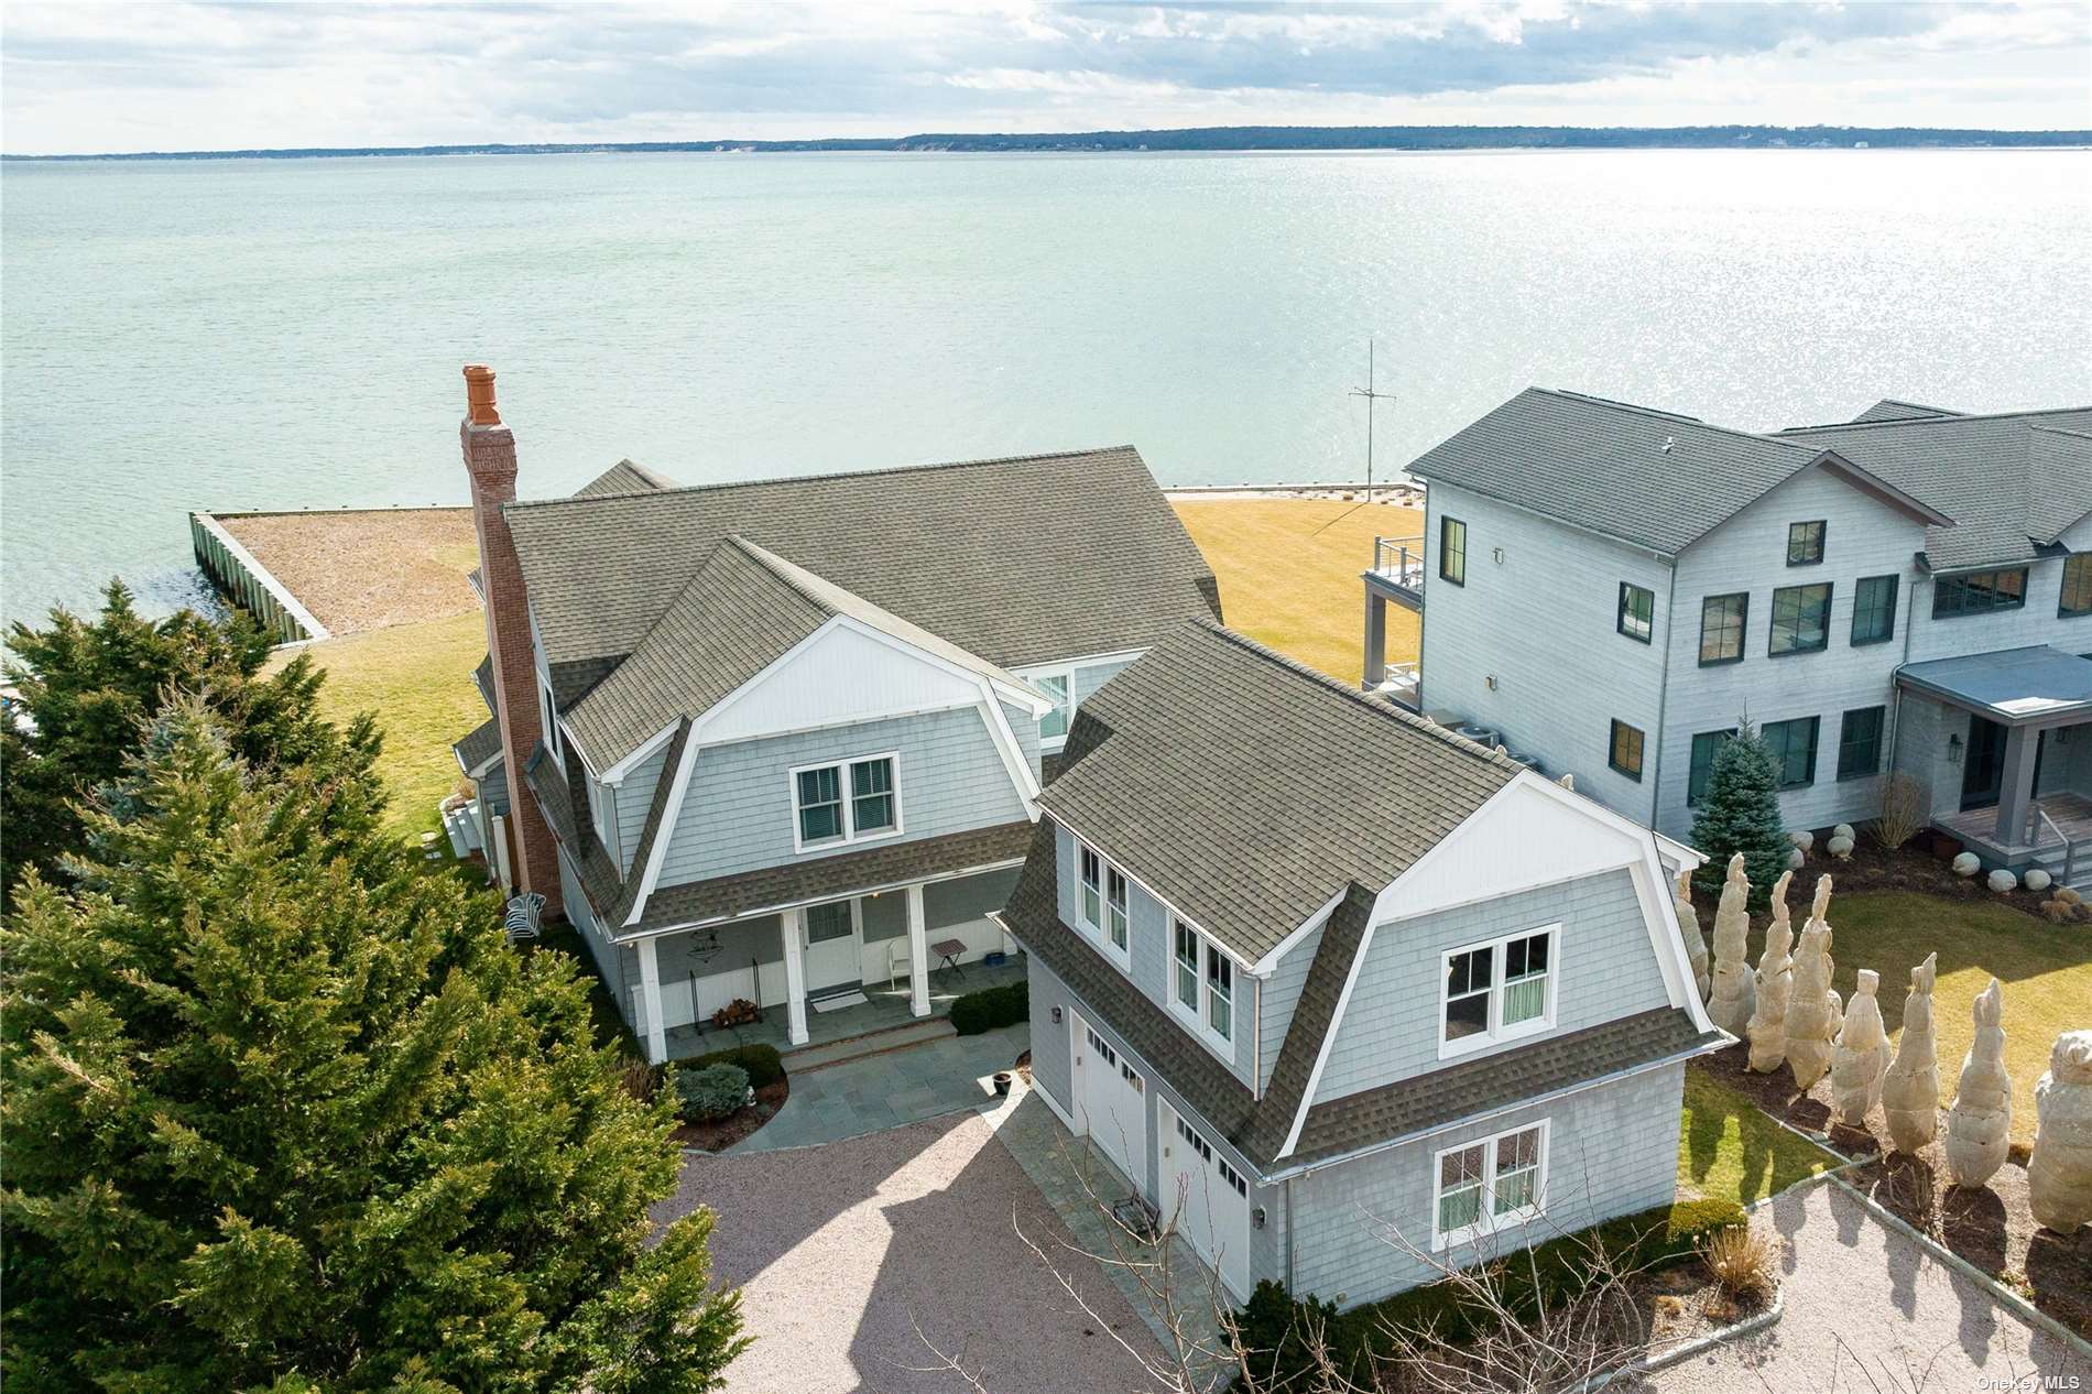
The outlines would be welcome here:
<svg viewBox="0 0 2092 1394">
<path fill-rule="evenodd" d="M 1625 402 L 1529 387 L 1410 473 L 1678 555 L 1822 452 L 1929 511 L 1935 571 L 2033 557 L 2092 513 L 2092 408 L 1971 417 L 1883 400 L 1858 421 L 1730 431 Z"/>
</svg>

